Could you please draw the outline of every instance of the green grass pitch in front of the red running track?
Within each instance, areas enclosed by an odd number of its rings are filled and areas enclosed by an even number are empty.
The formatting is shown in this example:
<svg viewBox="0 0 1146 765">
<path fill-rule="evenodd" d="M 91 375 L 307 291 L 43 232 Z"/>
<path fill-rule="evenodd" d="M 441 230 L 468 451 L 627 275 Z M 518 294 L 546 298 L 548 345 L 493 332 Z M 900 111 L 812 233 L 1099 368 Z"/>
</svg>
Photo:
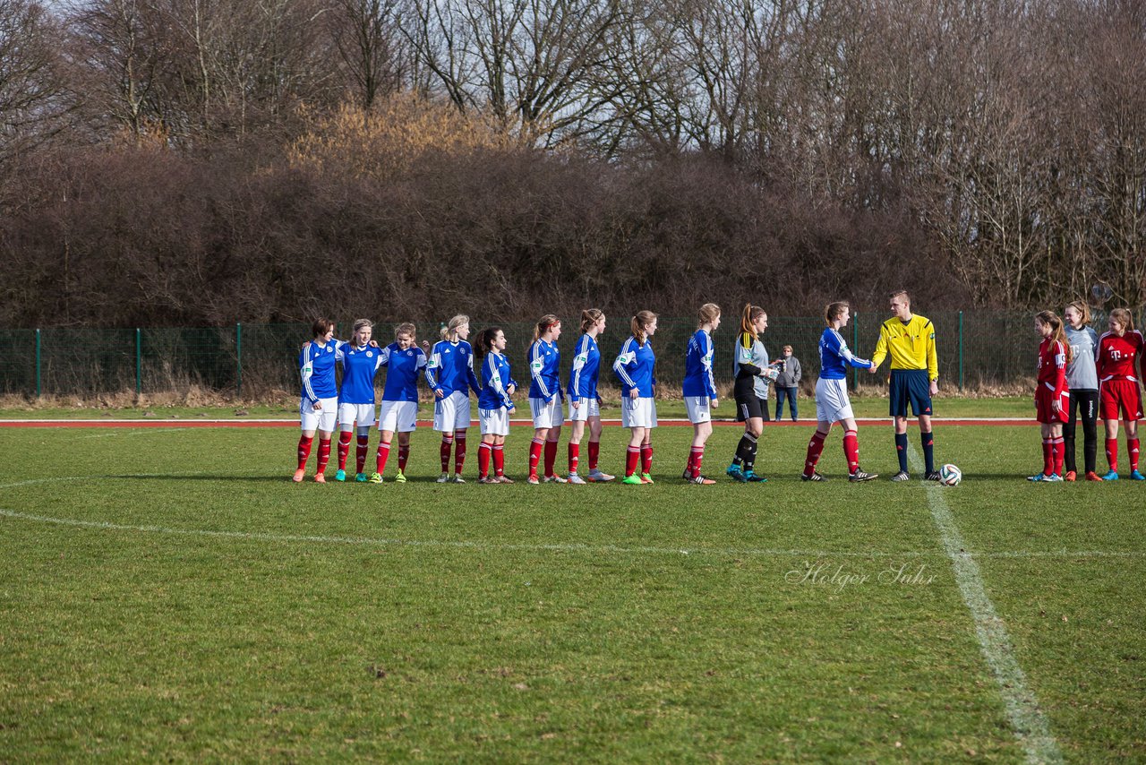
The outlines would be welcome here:
<svg viewBox="0 0 1146 765">
<path fill-rule="evenodd" d="M 322 486 L 289 429 L 0 429 L 0 760 L 1146 759 L 1146 486 L 951 426 L 955 489 L 838 432 L 801 483 L 810 427 L 700 487 L 690 432 L 652 486 L 439 485 L 425 430 Z"/>
</svg>

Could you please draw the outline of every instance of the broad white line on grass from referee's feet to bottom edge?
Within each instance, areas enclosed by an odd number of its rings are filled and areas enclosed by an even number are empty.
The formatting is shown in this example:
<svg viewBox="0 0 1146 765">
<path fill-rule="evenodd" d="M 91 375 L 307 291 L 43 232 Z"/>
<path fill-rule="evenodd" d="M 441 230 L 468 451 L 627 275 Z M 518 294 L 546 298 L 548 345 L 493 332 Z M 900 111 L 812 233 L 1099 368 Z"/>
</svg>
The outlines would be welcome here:
<svg viewBox="0 0 1146 765">
<path fill-rule="evenodd" d="M 911 460 L 911 469 L 921 473 L 924 465 L 915 444 L 908 445 L 908 458 Z M 1011 727 L 1027 752 L 1027 762 L 1061 763 L 1062 754 L 1051 735 L 1051 724 L 1039 709 L 1035 693 L 1027 685 L 1027 676 L 1015 658 L 1006 623 L 995 612 L 995 604 L 979 573 L 979 564 L 966 552 L 967 545 L 963 541 L 955 516 L 943 497 L 944 489 L 934 481 L 925 483 L 932 518 L 955 569 L 955 580 L 963 594 L 963 602 L 974 618 L 979 646 L 995 674 L 1007 717 L 1011 718 Z"/>
</svg>

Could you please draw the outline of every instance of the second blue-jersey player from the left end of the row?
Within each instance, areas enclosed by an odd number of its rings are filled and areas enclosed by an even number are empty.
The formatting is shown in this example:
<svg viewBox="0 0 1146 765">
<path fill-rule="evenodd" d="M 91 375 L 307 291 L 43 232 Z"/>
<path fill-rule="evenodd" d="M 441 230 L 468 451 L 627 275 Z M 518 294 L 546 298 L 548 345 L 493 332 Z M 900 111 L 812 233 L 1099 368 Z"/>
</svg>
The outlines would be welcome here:
<svg viewBox="0 0 1146 765">
<path fill-rule="evenodd" d="M 351 344 L 343 349 L 343 385 L 338 391 L 338 473 L 335 481 L 346 481 L 346 458 L 351 451 L 352 431 L 358 423 L 358 470 L 355 481 L 364 482 L 367 450 L 370 443 L 370 426 L 374 424 L 374 375 L 378 370 L 380 349 L 371 343 L 374 322 L 359 319 L 354 322 Z"/>
</svg>

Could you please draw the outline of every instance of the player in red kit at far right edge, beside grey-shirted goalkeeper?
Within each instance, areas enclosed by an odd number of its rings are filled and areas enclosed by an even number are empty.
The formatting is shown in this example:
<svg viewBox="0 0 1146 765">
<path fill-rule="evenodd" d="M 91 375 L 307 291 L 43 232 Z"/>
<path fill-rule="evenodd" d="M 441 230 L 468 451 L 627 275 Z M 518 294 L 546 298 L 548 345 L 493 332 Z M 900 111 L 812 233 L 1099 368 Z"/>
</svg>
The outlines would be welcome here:
<svg viewBox="0 0 1146 765">
<path fill-rule="evenodd" d="M 1138 471 L 1138 421 L 1143 419 L 1143 399 L 1135 376 L 1135 359 L 1146 376 L 1146 343 L 1133 327 L 1127 309 L 1110 311 L 1109 331 L 1098 341 L 1098 401 L 1106 423 L 1106 461 L 1110 471 L 1104 481 L 1118 479 L 1118 411 L 1127 428 L 1127 451 L 1130 453 L 1130 477 L 1146 481 Z"/>
</svg>

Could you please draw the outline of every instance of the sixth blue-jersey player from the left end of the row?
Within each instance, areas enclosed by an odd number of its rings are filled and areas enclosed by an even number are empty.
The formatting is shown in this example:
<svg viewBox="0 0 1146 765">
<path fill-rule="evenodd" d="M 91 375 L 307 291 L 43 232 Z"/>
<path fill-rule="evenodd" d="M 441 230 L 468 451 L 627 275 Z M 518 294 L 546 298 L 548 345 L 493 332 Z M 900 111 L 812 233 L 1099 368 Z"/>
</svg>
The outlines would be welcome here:
<svg viewBox="0 0 1146 765">
<path fill-rule="evenodd" d="M 537 321 L 533 330 L 533 343 L 529 345 L 527 360 L 529 362 L 529 413 L 533 415 L 533 443 L 529 444 L 529 478 L 531 484 L 541 483 L 537 479 L 537 462 L 542 448 L 545 453 L 545 483 L 567 483 L 554 473 L 557 461 L 557 439 L 562 436 L 562 424 L 565 422 L 565 406 L 560 381 L 562 354 L 557 350 L 557 338 L 562 336 L 562 320 L 547 313 Z M 584 483 L 578 481 L 578 483 Z"/>
</svg>

